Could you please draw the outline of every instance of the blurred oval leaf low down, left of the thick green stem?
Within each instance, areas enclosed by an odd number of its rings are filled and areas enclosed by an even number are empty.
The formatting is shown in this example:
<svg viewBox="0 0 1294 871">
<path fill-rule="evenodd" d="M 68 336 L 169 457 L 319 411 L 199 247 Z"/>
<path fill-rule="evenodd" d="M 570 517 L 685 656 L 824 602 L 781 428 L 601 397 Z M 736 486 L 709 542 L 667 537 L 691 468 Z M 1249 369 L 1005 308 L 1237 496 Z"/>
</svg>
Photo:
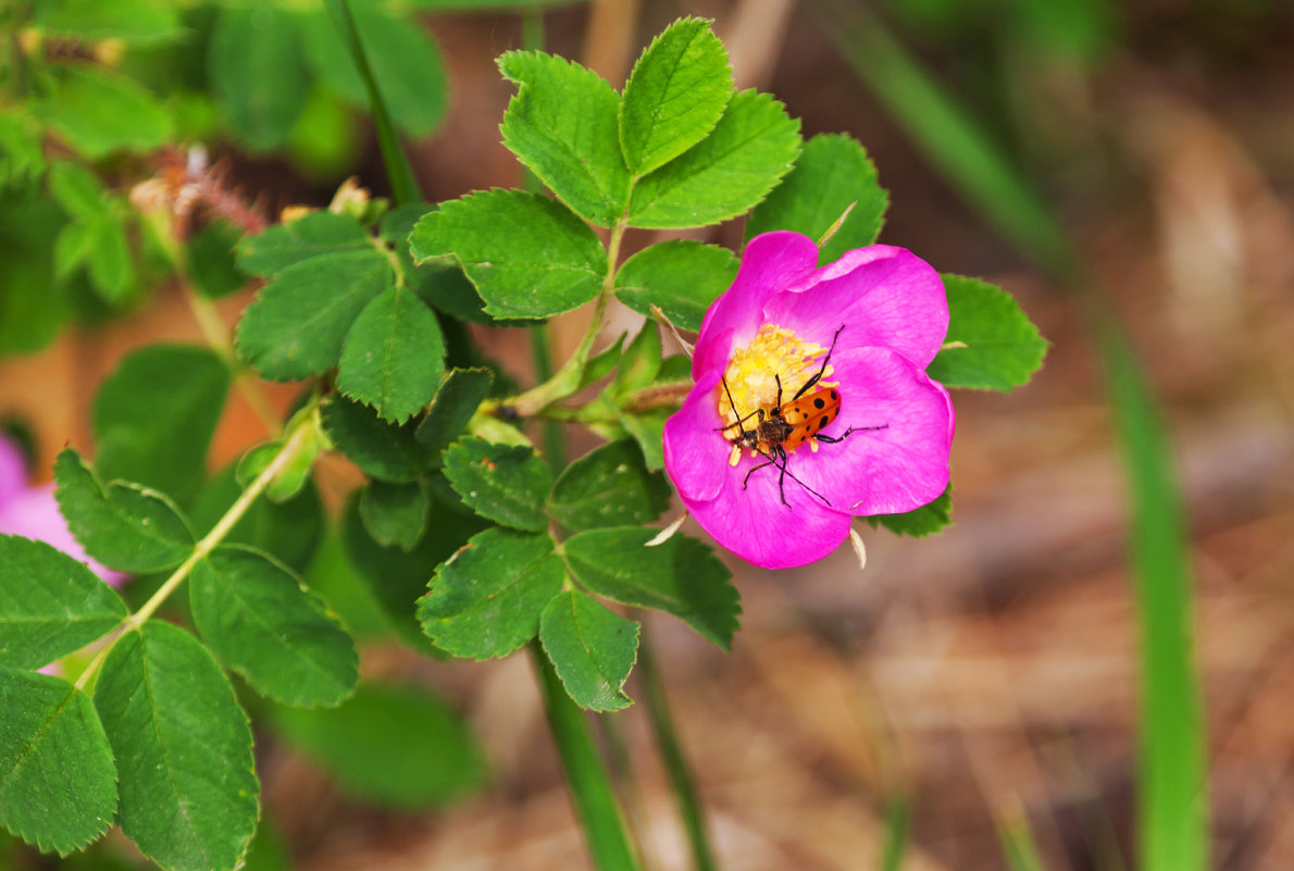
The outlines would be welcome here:
<svg viewBox="0 0 1294 871">
<path fill-rule="evenodd" d="M 401 810 L 448 805 L 488 775 L 472 730 L 422 686 L 365 682 L 339 708 L 276 708 L 269 722 L 366 804 Z"/>
</svg>

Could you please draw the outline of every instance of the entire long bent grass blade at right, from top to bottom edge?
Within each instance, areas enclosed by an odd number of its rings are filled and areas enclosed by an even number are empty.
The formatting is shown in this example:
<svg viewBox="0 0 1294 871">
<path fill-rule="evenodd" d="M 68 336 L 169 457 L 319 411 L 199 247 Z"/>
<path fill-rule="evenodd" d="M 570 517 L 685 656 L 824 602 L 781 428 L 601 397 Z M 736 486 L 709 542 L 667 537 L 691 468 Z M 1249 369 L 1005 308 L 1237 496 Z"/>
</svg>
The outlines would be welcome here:
<svg viewBox="0 0 1294 871">
<path fill-rule="evenodd" d="M 1139 867 L 1203 871 L 1209 855 L 1203 716 L 1190 628 L 1187 537 L 1170 447 L 1113 308 L 1086 283 L 1046 199 L 864 8 L 819 0 L 827 31 L 934 167 L 1025 255 L 1082 300 L 1106 370 L 1132 497 L 1140 621 Z M 1095 312 L 1095 316 L 1092 316 Z"/>
</svg>

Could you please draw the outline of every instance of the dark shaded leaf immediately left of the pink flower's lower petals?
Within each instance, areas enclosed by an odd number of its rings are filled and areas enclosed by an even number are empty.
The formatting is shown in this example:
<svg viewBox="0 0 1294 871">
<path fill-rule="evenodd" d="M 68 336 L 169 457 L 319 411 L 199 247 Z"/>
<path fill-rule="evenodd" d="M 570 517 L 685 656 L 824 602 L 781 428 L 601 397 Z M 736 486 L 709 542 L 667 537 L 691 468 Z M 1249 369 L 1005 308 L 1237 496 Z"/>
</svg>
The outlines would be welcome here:
<svg viewBox="0 0 1294 871">
<path fill-rule="evenodd" d="M 650 472 L 630 441 L 613 441 L 567 466 L 549 513 L 568 529 L 598 529 L 651 523 L 669 507 L 670 489 L 661 472 Z"/>
</svg>

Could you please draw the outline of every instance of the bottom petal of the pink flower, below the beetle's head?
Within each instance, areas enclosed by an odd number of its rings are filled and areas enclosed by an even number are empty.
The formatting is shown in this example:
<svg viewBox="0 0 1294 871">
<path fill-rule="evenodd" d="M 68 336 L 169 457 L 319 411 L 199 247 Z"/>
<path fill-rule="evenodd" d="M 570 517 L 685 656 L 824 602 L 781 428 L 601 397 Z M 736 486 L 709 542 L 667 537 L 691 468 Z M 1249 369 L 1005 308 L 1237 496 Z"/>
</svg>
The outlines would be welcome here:
<svg viewBox="0 0 1294 871">
<path fill-rule="evenodd" d="M 741 479 L 753 465 L 747 458 L 729 467 L 713 500 L 683 497 L 687 510 L 714 541 L 756 566 L 792 568 L 822 559 L 849 537 L 849 515 L 826 507 L 789 478 L 788 505 L 783 505 L 780 475 L 771 466 L 751 475 L 741 489 Z"/>
</svg>

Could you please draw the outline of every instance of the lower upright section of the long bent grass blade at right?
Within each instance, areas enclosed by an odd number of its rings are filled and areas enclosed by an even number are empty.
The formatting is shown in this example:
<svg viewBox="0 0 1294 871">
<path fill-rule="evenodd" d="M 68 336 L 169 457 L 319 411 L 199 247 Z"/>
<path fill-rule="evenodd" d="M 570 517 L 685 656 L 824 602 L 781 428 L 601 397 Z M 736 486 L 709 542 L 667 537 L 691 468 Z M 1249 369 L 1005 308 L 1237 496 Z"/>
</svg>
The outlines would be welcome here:
<svg viewBox="0 0 1294 871">
<path fill-rule="evenodd" d="M 1101 344 L 1132 509 L 1141 637 L 1139 867 L 1202 871 L 1209 859 L 1205 729 L 1172 450 L 1127 338 L 1110 325 Z"/>
</svg>

